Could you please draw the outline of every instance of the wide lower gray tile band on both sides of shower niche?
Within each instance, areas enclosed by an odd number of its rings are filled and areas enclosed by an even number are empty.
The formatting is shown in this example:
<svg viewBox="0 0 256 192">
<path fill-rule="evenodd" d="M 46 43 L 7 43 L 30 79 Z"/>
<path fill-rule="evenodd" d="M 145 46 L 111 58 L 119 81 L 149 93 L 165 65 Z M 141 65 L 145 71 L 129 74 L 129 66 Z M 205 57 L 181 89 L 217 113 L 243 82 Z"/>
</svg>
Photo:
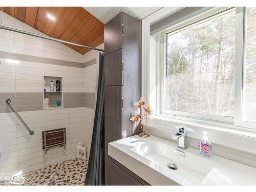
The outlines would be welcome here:
<svg viewBox="0 0 256 192">
<path fill-rule="evenodd" d="M 63 107 L 94 109 L 94 97 L 95 93 L 63 93 Z M 0 93 L 0 113 L 12 112 L 6 99 L 12 100 L 18 112 L 43 110 L 42 93 Z"/>
</svg>

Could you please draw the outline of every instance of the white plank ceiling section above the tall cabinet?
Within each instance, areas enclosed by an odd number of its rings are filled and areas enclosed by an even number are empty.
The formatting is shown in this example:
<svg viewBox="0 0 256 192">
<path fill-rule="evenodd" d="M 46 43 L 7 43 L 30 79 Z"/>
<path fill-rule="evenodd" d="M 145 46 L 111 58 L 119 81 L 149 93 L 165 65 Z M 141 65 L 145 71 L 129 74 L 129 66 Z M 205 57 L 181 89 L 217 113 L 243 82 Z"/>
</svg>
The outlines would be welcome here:
<svg viewBox="0 0 256 192">
<path fill-rule="evenodd" d="M 119 12 L 127 13 L 135 18 L 143 19 L 162 7 L 83 7 L 102 23 L 107 23 Z"/>
</svg>

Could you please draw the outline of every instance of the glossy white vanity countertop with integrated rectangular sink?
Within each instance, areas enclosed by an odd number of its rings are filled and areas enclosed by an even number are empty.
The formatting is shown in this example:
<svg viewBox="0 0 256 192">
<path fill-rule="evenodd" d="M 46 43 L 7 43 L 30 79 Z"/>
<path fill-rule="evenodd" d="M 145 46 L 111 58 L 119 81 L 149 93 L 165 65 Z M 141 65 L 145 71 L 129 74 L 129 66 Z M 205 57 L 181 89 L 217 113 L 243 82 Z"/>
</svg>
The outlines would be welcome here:
<svg viewBox="0 0 256 192">
<path fill-rule="evenodd" d="M 204 157 L 190 147 L 181 150 L 177 143 L 152 135 L 111 142 L 109 155 L 151 185 L 256 185 L 256 168 L 215 155 Z M 178 168 L 169 169 L 170 162 Z"/>
</svg>

